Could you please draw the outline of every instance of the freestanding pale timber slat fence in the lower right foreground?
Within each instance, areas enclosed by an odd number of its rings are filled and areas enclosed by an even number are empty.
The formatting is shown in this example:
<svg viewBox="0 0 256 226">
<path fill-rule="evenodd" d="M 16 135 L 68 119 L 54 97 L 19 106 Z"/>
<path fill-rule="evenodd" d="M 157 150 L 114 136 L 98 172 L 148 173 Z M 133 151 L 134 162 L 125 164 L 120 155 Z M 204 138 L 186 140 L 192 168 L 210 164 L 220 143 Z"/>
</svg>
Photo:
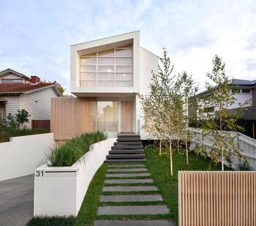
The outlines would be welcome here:
<svg viewBox="0 0 256 226">
<path fill-rule="evenodd" d="M 256 172 L 178 171 L 178 225 L 256 225 Z"/>
</svg>

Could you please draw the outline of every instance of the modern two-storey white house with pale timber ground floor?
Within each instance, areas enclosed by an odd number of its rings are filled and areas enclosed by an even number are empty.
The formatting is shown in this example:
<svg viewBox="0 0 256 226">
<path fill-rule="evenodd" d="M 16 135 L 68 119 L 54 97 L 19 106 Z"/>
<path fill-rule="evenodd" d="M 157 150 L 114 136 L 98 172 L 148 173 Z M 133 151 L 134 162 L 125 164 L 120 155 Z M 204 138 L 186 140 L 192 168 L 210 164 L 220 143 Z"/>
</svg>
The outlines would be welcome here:
<svg viewBox="0 0 256 226">
<path fill-rule="evenodd" d="M 56 140 L 82 132 L 137 132 L 146 137 L 138 94 L 148 94 L 159 57 L 140 47 L 140 31 L 71 46 L 70 91 L 52 99 Z"/>
</svg>

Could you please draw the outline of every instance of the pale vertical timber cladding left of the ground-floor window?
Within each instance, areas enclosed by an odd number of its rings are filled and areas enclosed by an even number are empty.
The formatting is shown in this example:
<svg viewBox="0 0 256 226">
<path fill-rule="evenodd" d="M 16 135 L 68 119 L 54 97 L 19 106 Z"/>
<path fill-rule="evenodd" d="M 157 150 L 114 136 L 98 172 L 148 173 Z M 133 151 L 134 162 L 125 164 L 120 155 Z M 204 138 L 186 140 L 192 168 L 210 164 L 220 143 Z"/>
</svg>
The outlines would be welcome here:
<svg viewBox="0 0 256 226">
<path fill-rule="evenodd" d="M 55 140 L 69 140 L 83 132 L 94 132 L 97 102 L 94 99 L 56 97 L 51 99 L 50 129 Z"/>
</svg>

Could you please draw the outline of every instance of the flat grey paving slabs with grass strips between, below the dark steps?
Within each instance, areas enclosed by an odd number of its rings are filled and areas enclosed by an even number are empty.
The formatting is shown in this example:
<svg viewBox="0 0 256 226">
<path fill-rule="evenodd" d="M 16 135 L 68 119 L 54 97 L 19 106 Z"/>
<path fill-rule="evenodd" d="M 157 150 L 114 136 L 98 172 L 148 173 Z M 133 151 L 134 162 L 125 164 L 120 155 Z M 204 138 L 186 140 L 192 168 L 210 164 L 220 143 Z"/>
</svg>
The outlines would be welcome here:
<svg viewBox="0 0 256 226">
<path fill-rule="evenodd" d="M 108 220 L 97 220 L 94 226 L 175 225 L 167 219 L 154 220 L 154 215 L 169 214 L 169 209 L 165 206 L 162 196 L 158 194 L 157 187 L 152 183 L 151 175 L 144 164 L 109 165 L 105 187 L 103 187 L 100 198 L 104 205 L 99 206 L 97 212 L 99 217 L 108 216 Z M 131 215 L 145 214 L 151 216 L 152 220 L 115 219 L 115 216 L 127 219 Z M 111 220 L 112 216 L 113 220 Z"/>
</svg>

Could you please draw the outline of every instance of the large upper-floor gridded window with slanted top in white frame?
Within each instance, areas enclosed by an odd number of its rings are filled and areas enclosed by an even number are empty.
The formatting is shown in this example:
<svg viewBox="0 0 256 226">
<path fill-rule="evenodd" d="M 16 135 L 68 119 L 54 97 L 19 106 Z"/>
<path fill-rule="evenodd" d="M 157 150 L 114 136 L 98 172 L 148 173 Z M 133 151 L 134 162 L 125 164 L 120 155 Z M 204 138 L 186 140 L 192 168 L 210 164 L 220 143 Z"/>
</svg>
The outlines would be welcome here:
<svg viewBox="0 0 256 226">
<path fill-rule="evenodd" d="M 132 46 L 80 56 L 80 86 L 132 87 Z"/>
</svg>

